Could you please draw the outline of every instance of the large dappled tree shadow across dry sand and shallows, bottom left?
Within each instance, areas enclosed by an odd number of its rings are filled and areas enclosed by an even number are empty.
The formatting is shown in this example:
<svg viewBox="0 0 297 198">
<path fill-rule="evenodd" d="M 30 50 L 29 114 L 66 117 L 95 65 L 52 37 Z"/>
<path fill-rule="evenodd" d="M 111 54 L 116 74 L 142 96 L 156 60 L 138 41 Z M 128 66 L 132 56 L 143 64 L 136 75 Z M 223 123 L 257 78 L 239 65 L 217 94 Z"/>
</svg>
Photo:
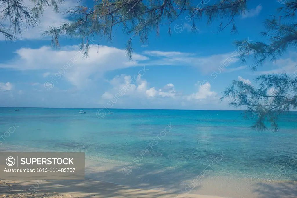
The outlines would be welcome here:
<svg viewBox="0 0 297 198">
<path fill-rule="evenodd" d="M 125 175 L 123 173 L 123 166 L 116 166 L 108 171 L 86 171 L 85 180 L 39 180 L 36 181 L 9 181 L 5 180 L 0 183 L 0 194 L 11 195 L 13 197 L 20 197 L 21 194 L 26 197 L 47 197 L 52 198 L 58 194 L 76 194 L 78 197 L 90 197 L 90 198 L 108 198 L 108 197 L 164 197 L 164 198 L 181 198 L 178 194 L 183 194 L 178 188 L 183 184 L 176 186 L 178 181 L 184 179 L 185 175 L 181 171 L 184 167 L 178 168 L 178 170 L 163 170 L 163 171 L 148 171 L 149 166 L 153 164 L 139 165 L 135 170 L 132 170 L 131 174 Z M 168 177 L 170 176 L 170 180 Z M 197 175 L 193 175 L 192 178 Z M 92 178 L 106 178 L 107 182 L 100 180 L 90 179 Z M 110 183 L 110 181 L 114 183 Z M 117 184 L 115 184 L 117 183 Z M 137 184 L 135 187 L 129 186 L 129 184 Z M 10 186 L 8 186 L 10 184 Z M 13 184 L 13 185 L 11 185 Z M 118 185 L 124 184 L 124 185 Z M 34 187 L 32 188 L 32 186 Z M 199 189 L 200 185 L 195 186 L 195 190 Z M 169 189 L 168 191 L 150 191 L 147 194 L 147 189 Z M 174 189 L 174 190 L 173 190 Z M 57 194 L 49 194 L 48 192 L 56 192 Z M 174 192 L 175 191 L 175 192 Z M 187 194 L 187 197 L 196 195 Z M 5 197 L 5 196 L 4 196 Z M 13 198 L 10 197 L 10 198 Z M 63 196 L 58 196 L 63 197 Z M 185 197 L 185 194 L 184 194 Z M 8 197 L 7 197 L 8 198 Z M 25 198 L 25 197 L 22 197 Z"/>
</svg>

